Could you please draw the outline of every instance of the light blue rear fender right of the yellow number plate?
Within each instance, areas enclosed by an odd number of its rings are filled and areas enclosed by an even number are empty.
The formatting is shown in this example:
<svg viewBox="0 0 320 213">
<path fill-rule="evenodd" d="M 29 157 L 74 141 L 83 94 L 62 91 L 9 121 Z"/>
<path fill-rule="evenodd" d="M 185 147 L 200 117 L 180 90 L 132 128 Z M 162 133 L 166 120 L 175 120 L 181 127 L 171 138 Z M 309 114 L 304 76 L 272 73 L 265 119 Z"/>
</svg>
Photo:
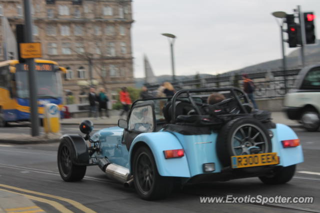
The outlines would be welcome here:
<svg viewBox="0 0 320 213">
<path fill-rule="evenodd" d="M 287 167 L 302 163 L 303 152 L 301 145 L 289 148 L 283 148 L 282 146 L 281 141 L 298 139 L 294 131 L 284 124 L 276 124 L 276 128 L 272 132 L 274 135 L 272 138 L 272 152 L 276 152 L 280 157 L 279 165 Z"/>
</svg>

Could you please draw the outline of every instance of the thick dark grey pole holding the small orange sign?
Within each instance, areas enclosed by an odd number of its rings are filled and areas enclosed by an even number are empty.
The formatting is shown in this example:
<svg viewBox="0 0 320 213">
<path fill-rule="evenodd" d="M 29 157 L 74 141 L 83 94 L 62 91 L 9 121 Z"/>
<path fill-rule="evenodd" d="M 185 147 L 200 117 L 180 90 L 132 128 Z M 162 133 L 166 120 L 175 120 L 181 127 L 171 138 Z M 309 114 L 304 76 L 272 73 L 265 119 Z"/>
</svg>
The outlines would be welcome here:
<svg viewBox="0 0 320 213">
<path fill-rule="evenodd" d="M 23 0 L 24 2 L 24 37 L 25 42 L 33 42 L 32 38 L 32 17 L 30 0 Z M 30 120 L 31 120 L 31 135 L 39 135 L 39 117 L 37 106 L 37 84 L 35 75 L 35 62 L 33 58 L 26 58 L 28 65 L 28 83 L 29 83 L 29 103 L 30 103 Z"/>
</svg>

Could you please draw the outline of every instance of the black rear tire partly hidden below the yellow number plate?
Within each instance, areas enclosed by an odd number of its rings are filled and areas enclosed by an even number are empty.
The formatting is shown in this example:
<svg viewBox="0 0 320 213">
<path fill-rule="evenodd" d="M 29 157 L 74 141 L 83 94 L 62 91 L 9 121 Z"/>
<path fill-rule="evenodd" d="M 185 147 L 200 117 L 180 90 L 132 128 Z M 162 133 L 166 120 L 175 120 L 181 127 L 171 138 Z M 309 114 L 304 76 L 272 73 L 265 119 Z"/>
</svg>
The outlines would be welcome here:
<svg viewBox="0 0 320 213">
<path fill-rule="evenodd" d="M 259 177 L 259 179 L 264 184 L 285 184 L 292 179 L 294 172 L 295 164 L 288 167 L 277 168 L 273 171 L 273 174 Z"/>
</svg>

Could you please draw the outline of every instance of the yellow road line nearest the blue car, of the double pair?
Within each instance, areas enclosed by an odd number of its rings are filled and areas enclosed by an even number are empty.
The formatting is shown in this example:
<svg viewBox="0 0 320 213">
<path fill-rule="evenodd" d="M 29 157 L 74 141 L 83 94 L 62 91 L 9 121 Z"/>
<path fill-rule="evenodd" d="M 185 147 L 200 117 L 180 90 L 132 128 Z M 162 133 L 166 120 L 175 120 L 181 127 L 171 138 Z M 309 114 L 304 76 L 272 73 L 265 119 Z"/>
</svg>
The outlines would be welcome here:
<svg viewBox="0 0 320 213">
<path fill-rule="evenodd" d="M 62 197 L 59 197 L 59 196 L 49 195 L 49 194 L 35 192 L 35 191 L 31 191 L 31 190 L 20 189 L 20 188 L 17 188 L 17 187 L 12 187 L 12 186 L 8 186 L 8 185 L 4 185 L 4 184 L 0 184 L 0 187 L 13 189 L 13 190 L 21 191 L 21 192 L 26 192 L 26 193 L 30 193 L 30 194 L 34 194 L 34 195 L 40 195 L 40 196 L 44 196 L 44 197 L 48 197 L 48 198 L 53 198 L 53 199 L 60 200 L 60 201 L 64 201 L 64 202 L 67 202 L 67 203 L 71 204 L 72 206 L 74 206 L 75 208 L 81 210 L 84 213 L 95 213 L 93 210 L 83 206 L 82 204 L 80 204 L 80 203 L 78 203 L 76 201 L 67 199 L 67 198 L 62 198 Z"/>
</svg>

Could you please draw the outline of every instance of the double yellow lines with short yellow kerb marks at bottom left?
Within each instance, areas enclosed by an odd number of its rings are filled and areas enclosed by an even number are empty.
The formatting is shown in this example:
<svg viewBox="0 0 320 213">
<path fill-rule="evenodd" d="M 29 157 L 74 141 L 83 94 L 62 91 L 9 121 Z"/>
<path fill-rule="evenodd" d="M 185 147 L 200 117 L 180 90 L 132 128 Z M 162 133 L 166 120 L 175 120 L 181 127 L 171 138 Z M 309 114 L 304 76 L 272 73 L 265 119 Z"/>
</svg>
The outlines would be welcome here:
<svg viewBox="0 0 320 213">
<path fill-rule="evenodd" d="M 80 204 L 80 203 L 78 203 L 76 201 L 67 199 L 67 198 L 62 198 L 62 197 L 59 197 L 59 196 L 49 195 L 49 194 L 35 192 L 35 191 L 31 191 L 31 190 L 25 190 L 25 189 L 12 187 L 12 186 L 8 186 L 8 185 L 4 185 L 4 184 L 0 184 L 0 187 L 6 188 L 6 189 L 15 190 L 15 191 L 19 191 L 19 192 L 29 193 L 29 194 L 33 194 L 33 195 L 39 195 L 39 196 L 43 196 L 43 197 L 53 198 L 53 199 L 60 200 L 60 201 L 64 201 L 64 202 L 67 202 L 67 203 L 71 204 L 73 207 L 81 210 L 84 213 L 95 213 L 93 210 L 83 206 L 82 204 Z M 41 202 L 41 203 L 46 203 L 46 204 L 54 207 L 56 210 L 58 210 L 61 213 L 72 213 L 70 210 L 66 209 L 63 205 L 61 205 L 61 204 L 59 204 L 59 203 L 57 203 L 55 201 L 51 201 L 51 200 L 47 200 L 47 199 L 31 196 L 31 195 L 28 195 L 28 194 L 17 193 L 17 192 L 5 190 L 5 189 L 0 189 L 0 190 L 1 191 L 5 191 L 5 192 L 18 194 L 18 195 L 23 195 L 24 197 L 26 197 L 28 199 L 31 199 L 31 200 L 34 200 L 34 201 L 38 201 L 38 202 Z M 17 209 L 20 209 L 20 208 L 17 208 Z M 8 210 L 19 211 L 17 209 L 8 209 Z M 8 210 L 6 210 L 6 211 L 8 212 Z M 25 211 L 23 213 L 36 213 L 35 211 L 43 212 L 43 210 L 41 210 L 39 208 L 37 210 L 31 210 L 31 209 L 26 209 L 26 210 L 27 211 Z M 11 212 L 11 213 L 13 213 L 13 212 Z M 21 213 L 21 212 L 19 212 L 19 213 Z"/>
</svg>

